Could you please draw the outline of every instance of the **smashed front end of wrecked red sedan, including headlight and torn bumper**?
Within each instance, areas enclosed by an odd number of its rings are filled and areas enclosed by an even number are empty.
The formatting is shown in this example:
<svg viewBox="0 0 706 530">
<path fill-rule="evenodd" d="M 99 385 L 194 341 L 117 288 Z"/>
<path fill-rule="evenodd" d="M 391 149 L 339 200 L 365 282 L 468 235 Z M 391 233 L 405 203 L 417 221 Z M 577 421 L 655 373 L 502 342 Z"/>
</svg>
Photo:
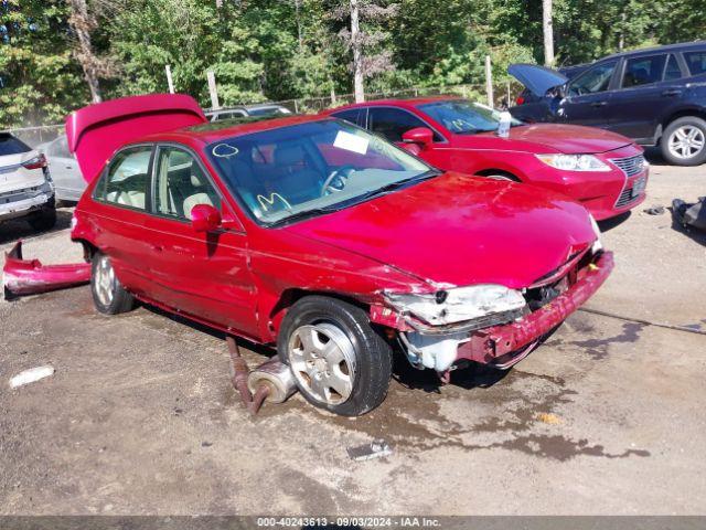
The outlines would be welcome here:
<svg viewBox="0 0 706 530">
<path fill-rule="evenodd" d="M 593 247 L 524 289 L 477 285 L 435 294 L 383 293 L 371 320 L 397 330 L 409 362 L 448 381 L 463 360 L 504 370 L 524 359 L 603 284 L 612 253 Z"/>
</svg>

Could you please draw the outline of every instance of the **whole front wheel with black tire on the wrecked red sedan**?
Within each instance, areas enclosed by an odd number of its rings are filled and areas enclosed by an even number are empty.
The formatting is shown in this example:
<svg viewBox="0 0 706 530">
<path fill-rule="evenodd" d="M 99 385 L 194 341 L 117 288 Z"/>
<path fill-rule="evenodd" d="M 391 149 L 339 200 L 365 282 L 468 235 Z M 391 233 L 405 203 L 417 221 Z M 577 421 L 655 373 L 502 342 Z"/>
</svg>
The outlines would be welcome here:
<svg viewBox="0 0 706 530">
<path fill-rule="evenodd" d="M 282 320 L 277 349 L 313 405 L 360 416 L 387 395 L 393 352 L 367 314 L 345 301 L 307 296 Z"/>
</svg>

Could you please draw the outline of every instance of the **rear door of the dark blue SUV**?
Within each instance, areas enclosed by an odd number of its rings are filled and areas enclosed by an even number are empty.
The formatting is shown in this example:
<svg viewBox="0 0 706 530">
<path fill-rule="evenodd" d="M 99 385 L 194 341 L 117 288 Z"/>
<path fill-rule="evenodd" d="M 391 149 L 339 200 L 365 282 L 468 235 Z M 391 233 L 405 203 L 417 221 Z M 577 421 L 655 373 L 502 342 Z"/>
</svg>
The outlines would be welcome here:
<svg viewBox="0 0 706 530">
<path fill-rule="evenodd" d="M 683 92 L 680 61 L 672 53 L 641 55 L 625 59 L 621 70 L 619 88 L 609 105 L 609 128 L 651 144 L 660 117 Z"/>
</svg>

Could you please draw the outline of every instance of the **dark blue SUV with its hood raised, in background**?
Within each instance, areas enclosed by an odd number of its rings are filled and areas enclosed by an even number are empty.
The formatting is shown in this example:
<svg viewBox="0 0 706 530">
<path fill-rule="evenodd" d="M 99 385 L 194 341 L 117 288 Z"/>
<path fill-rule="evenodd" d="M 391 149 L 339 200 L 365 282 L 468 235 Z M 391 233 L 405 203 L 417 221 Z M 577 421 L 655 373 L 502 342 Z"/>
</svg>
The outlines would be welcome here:
<svg viewBox="0 0 706 530">
<path fill-rule="evenodd" d="M 510 109 L 517 119 L 601 127 L 660 146 L 670 163 L 706 161 L 704 41 L 610 55 L 570 80 L 528 64 L 509 72 L 533 94 Z"/>
</svg>

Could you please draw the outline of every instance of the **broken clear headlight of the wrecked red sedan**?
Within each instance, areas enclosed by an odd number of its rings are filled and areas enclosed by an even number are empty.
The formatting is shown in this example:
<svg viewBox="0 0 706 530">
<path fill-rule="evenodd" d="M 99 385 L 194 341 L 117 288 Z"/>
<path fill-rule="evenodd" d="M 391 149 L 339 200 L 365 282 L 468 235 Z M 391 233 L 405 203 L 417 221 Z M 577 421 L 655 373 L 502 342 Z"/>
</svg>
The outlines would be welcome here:
<svg viewBox="0 0 706 530">
<path fill-rule="evenodd" d="M 434 326 L 461 322 L 525 307 L 522 293 L 503 285 L 481 284 L 432 294 L 384 293 L 400 312 L 414 315 Z"/>
</svg>

